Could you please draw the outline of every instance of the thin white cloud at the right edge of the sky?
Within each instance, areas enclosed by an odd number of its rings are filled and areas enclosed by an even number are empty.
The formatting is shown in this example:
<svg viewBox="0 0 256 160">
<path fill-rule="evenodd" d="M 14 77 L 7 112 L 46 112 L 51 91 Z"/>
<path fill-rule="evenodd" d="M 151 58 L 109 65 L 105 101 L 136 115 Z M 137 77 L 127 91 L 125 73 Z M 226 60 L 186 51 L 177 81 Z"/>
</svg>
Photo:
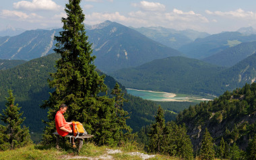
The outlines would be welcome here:
<svg viewBox="0 0 256 160">
<path fill-rule="evenodd" d="M 209 15 L 218 15 L 221 17 L 256 19 L 256 13 L 253 13 L 253 11 L 244 11 L 243 9 L 236 9 L 235 11 L 208 11 L 208 10 L 206 10 L 205 13 L 207 13 Z"/>
</svg>

